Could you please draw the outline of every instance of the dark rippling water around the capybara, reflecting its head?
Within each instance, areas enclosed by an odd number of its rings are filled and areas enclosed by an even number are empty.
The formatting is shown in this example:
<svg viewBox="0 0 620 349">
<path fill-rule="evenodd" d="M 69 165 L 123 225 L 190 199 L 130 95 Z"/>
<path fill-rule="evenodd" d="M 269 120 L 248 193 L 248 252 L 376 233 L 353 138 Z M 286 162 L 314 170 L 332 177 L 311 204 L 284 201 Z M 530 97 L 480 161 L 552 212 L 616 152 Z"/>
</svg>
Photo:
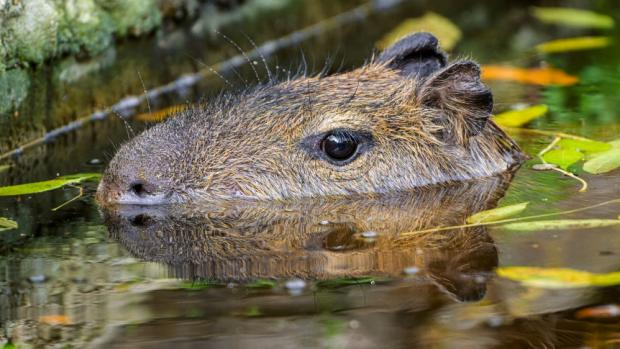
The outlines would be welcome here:
<svg viewBox="0 0 620 349">
<path fill-rule="evenodd" d="M 270 15 L 286 19 L 277 24 L 272 17 L 244 17 L 222 24 L 220 31 L 250 51 L 253 46 L 240 32 L 260 45 L 359 4 L 282 5 Z M 595 6 L 588 4 L 568 5 Z M 612 2 L 596 6 L 620 13 Z M 326 29 L 278 51 L 270 65 L 297 67 L 303 51 L 314 70 L 328 57 L 335 62 L 331 70 L 355 67 L 385 32 L 427 9 L 463 30 L 453 56 L 469 55 L 483 64 L 533 65 L 543 59 L 528 49 L 538 42 L 596 34 L 540 24 L 523 4 L 419 1 Z M 238 54 L 221 36 L 188 32 L 191 27 L 124 43 L 104 68 L 71 82 L 54 80 L 50 71 L 59 66 L 32 73 L 33 81 L 49 81 L 47 89 L 33 88 L 11 112 L 19 117 L 2 124 L 2 151 L 124 96 L 139 96 L 140 77 L 151 89 L 201 69 L 197 62 L 215 64 Z M 610 35 L 619 37 L 617 30 Z M 579 76 L 575 86 L 491 83 L 496 109 L 545 103 L 550 114 L 530 127 L 617 139 L 618 47 L 544 58 Z M 164 69 L 162 61 L 168 62 Z M 264 76 L 260 64 L 256 67 Z M 247 66 L 239 74 L 248 81 L 254 76 Z M 243 85 L 234 73 L 225 78 Z M 207 77 L 135 112 L 208 97 L 225 85 Z M 148 126 L 129 123 L 136 132 Z M 25 151 L 0 173 L 0 184 L 100 172 L 130 135 L 118 117 L 88 124 Z M 532 155 L 551 141 L 513 136 Z M 617 287 L 549 290 L 494 273 L 498 266 L 616 271 L 617 226 L 527 233 L 490 226 L 406 234 L 458 225 L 498 204 L 529 201 L 527 214 L 538 214 L 620 197 L 618 171 L 596 176 L 579 171 L 590 186 L 579 193 L 578 182 L 534 171 L 534 163 L 526 163 L 512 180 L 490 178 L 372 200 L 104 213 L 94 204 L 92 183 L 85 184 L 82 198 L 57 211 L 51 209 L 73 198 L 77 189 L 1 198 L 0 216 L 16 220 L 19 229 L 0 232 L 0 343 L 9 336 L 24 348 L 617 346 L 617 318 L 579 316 L 583 308 L 617 303 Z M 618 214 L 620 205 L 612 204 L 562 218 Z"/>
</svg>

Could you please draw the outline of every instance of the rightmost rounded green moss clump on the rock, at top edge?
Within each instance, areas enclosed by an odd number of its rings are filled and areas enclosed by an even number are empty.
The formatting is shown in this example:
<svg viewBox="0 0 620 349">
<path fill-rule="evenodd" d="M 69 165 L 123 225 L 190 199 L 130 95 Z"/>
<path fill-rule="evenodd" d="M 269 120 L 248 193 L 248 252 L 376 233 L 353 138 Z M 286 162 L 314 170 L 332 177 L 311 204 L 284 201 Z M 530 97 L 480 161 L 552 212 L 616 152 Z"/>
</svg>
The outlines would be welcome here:
<svg viewBox="0 0 620 349">
<path fill-rule="evenodd" d="M 117 36 L 139 36 L 161 24 L 161 13 L 155 0 L 98 0 L 114 22 Z"/>
</svg>

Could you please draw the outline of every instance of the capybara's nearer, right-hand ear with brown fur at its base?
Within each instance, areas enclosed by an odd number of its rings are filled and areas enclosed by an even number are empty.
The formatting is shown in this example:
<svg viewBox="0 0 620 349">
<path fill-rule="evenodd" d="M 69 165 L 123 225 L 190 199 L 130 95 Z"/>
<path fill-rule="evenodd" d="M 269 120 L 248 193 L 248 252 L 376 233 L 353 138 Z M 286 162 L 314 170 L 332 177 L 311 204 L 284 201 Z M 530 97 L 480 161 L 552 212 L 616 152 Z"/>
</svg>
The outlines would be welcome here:
<svg viewBox="0 0 620 349">
<path fill-rule="evenodd" d="M 420 105 L 436 110 L 444 139 L 461 143 L 480 133 L 493 112 L 493 95 L 472 61 L 457 61 L 430 76 L 417 98 Z"/>
</svg>

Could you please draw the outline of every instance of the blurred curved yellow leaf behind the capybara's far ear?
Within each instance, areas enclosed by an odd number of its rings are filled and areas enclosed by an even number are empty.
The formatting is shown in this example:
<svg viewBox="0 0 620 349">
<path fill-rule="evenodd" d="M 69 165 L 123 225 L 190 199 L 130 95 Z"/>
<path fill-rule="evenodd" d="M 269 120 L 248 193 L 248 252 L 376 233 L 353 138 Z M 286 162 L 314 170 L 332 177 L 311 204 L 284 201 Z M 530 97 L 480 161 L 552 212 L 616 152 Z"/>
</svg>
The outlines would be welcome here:
<svg viewBox="0 0 620 349">
<path fill-rule="evenodd" d="M 441 47 L 446 51 L 450 51 L 454 48 L 463 35 L 459 27 L 448 18 L 434 12 L 427 12 L 422 17 L 410 18 L 400 23 L 377 42 L 377 47 L 383 50 L 394 44 L 403 36 L 415 32 L 433 33 L 433 35 L 439 39 Z"/>
</svg>

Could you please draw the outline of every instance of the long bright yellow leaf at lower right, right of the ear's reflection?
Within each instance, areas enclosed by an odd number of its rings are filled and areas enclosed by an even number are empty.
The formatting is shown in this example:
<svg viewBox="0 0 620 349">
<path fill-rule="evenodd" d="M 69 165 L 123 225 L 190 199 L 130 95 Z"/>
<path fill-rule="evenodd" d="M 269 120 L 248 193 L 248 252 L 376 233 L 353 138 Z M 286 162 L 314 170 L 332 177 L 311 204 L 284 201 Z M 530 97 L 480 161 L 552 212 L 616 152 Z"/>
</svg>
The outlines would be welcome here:
<svg viewBox="0 0 620 349">
<path fill-rule="evenodd" d="M 580 288 L 620 284 L 620 272 L 595 274 L 564 268 L 500 267 L 497 275 L 540 288 Z"/>
</svg>

